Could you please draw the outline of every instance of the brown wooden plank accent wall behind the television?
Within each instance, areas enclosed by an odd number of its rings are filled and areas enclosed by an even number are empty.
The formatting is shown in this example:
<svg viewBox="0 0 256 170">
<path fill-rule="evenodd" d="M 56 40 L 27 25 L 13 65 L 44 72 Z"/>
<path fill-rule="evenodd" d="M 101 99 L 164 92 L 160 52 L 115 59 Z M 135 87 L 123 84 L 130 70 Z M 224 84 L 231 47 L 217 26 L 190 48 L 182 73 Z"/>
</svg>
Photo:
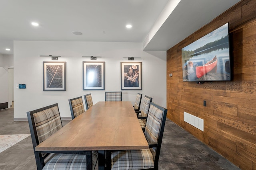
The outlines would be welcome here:
<svg viewBox="0 0 256 170">
<path fill-rule="evenodd" d="M 181 49 L 227 22 L 232 81 L 183 82 Z M 256 170 L 256 0 L 242 0 L 169 49 L 166 73 L 167 117 L 241 169 Z M 204 119 L 204 131 L 184 122 L 184 111 Z"/>
</svg>

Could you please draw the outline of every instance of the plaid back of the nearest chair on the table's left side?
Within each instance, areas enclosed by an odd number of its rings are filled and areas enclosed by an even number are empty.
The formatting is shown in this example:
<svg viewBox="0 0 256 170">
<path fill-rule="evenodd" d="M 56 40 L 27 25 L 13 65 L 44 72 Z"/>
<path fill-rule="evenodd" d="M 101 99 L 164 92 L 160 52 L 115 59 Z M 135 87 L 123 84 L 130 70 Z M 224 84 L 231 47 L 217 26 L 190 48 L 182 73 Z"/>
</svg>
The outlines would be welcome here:
<svg viewBox="0 0 256 170">
<path fill-rule="evenodd" d="M 36 166 L 38 169 L 42 169 L 44 166 L 44 159 L 49 154 L 36 152 L 35 148 L 41 142 L 62 128 L 58 104 L 53 104 L 33 111 L 28 111 L 27 116 L 36 158 Z"/>
</svg>

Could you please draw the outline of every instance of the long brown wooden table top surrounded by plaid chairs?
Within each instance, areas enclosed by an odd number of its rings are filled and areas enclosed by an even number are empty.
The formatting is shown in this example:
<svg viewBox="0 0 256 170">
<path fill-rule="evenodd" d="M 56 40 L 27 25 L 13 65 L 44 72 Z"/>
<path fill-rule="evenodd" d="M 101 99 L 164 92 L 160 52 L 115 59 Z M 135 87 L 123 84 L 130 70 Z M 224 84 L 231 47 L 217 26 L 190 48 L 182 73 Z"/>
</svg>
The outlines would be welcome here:
<svg viewBox="0 0 256 170">
<path fill-rule="evenodd" d="M 131 102 L 98 102 L 36 151 L 148 149 Z"/>
</svg>

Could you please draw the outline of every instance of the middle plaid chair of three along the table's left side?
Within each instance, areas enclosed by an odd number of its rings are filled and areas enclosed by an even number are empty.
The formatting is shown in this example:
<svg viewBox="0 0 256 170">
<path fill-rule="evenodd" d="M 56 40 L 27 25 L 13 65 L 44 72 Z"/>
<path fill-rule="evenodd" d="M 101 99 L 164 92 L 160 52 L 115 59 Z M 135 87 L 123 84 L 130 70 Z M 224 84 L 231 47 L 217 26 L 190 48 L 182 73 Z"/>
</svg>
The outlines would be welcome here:
<svg viewBox="0 0 256 170">
<path fill-rule="evenodd" d="M 84 103 L 82 100 L 82 96 L 78 98 L 68 99 L 68 102 L 72 119 L 84 113 Z"/>
</svg>

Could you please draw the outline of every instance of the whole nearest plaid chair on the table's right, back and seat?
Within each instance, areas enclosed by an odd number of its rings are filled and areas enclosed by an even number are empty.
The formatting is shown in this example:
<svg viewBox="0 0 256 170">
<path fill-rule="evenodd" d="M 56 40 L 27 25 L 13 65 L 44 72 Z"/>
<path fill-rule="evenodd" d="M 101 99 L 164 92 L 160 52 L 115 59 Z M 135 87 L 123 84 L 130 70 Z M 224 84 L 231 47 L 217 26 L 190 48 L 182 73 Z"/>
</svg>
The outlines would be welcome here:
<svg viewBox="0 0 256 170">
<path fill-rule="evenodd" d="M 149 149 L 108 151 L 107 168 L 111 170 L 158 170 L 166 114 L 167 109 L 152 102 L 144 132 Z"/>
</svg>

